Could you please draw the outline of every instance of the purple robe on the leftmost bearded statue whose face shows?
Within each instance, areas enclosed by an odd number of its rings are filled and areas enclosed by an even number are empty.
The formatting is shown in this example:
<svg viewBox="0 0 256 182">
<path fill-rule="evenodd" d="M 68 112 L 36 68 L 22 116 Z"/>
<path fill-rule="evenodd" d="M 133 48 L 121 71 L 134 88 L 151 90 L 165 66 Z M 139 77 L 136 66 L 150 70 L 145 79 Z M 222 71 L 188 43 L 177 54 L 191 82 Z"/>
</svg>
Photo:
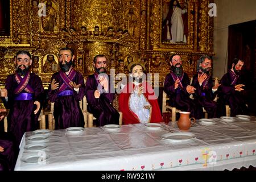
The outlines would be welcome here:
<svg viewBox="0 0 256 182">
<path fill-rule="evenodd" d="M 30 73 L 28 85 L 34 90 L 32 100 L 15 100 L 17 94 L 15 89 L 18 87 L 18 82 L 15 80 L 15 75 L 7 76 L 5 88 L 8 92 L 8 101 L 2 98 L 6 109 L 10 109 L 7 116 L 8 132 L 14 135 L 15 143 L 19 145 L 23 134 L 26 131 L 34 131 L 38 129 L 38 117 L 42 108 L 44 88 L 41 79 L 35 73 Z M 27 93 L 22 90 L 21 93 Z M 35 101 L 40 102 L 40 109 L 37 114 L 34 114 L 36 109 Z"/>
</svg>

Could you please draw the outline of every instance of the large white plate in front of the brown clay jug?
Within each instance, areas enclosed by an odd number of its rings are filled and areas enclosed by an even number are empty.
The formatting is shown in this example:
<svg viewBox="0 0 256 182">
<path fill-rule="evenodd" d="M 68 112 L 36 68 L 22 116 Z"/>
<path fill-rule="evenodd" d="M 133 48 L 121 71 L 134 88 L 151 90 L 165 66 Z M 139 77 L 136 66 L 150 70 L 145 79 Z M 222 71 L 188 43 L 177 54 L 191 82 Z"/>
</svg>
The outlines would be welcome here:
<svg viewBox="0 0 256 182">
<path fill-rule="evenodd" d="M 173 141 L 186 141 L 196 138 L 196 135 L 193 133 L 166 133 L 162 135 L 162 139 L 173 140 Z"/>
</svg>

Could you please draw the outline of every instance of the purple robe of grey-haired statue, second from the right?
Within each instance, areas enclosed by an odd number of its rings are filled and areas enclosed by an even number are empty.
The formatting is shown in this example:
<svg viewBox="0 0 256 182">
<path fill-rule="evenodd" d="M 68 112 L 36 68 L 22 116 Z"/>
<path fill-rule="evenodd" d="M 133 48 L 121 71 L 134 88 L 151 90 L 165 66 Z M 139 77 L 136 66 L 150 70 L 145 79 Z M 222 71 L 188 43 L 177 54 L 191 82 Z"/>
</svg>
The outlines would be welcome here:
<svg viewBox="0 0 256 182">
<path fill-rule="evenodd" d="M 192 86 L 196 88 L 194 94 L 195 100 L 207 111 L 208 118 L 216 118 L 217 103 L 213 100 L 217 95 L 217 90 L 214 93 L 212 92 L 212 76 L 208 76 L 200 86 L 199 81 L 197 80 L 198 74 L 199 73 L 196 73 L 196 75 L 193 76 L 192 81 Z"/>
</svg>

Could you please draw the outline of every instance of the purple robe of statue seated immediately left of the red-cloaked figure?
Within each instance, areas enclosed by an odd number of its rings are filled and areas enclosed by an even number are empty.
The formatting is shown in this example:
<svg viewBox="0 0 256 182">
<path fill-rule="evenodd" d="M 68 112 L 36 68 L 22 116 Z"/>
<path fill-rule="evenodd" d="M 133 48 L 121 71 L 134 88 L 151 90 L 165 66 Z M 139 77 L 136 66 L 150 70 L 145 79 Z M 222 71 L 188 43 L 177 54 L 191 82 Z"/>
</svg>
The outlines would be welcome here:
<svg viewBox="0 0 256 182">
<path fill-rule="evenodd" d="M 85 94 L 88 102 L 88 111 L 96 118 L 96 126 L 108 124 L 119 124 L 119 113 L 114 109 L 112 102 L 115 93 L 101 93 L 100 98 L 94 97 L 94 91 L 97 90 L 98 82 L 94 75 L 88 76 L 85 84 Z M 110 76 L 109 76 L 110 90 Z"/>
</svg>

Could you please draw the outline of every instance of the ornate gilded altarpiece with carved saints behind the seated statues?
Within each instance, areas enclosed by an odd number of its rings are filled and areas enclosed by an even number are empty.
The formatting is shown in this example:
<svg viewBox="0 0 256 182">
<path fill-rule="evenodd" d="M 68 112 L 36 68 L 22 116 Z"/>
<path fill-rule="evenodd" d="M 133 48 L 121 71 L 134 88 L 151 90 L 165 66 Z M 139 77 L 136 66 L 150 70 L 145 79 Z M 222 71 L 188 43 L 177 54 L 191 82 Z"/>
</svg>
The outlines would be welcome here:
<svg viewBox="0 0 256 182">
<path fill-rule="evenodd" d="M 187 15 L 186 41 L 173 43 L 163 39 L 170 0 L 10 0 L 11 35 L 0 36 L 1 88 L 7 75 L 14 73 L 15 52 L 21 49 L 35 58 L 31 71 L 38 73 L 48 88 L 52 73 L 44 64 L 51 61 L 47 57 L 58 63 L 58 51 L 65 46 L 75 50 L 76 68 L 84 77 L 94 72 L 97 54 L 106 55 L 108 70 L 126 74 L 131 57 L 141 61 L 147 73 L 159 73 L 159 86 L 163 86 L 173 53 L 181 55 L 184 71 L 192 76 L 197 59 L 214 54 L 210 0 L 179 3 Z"/>
</svg>

